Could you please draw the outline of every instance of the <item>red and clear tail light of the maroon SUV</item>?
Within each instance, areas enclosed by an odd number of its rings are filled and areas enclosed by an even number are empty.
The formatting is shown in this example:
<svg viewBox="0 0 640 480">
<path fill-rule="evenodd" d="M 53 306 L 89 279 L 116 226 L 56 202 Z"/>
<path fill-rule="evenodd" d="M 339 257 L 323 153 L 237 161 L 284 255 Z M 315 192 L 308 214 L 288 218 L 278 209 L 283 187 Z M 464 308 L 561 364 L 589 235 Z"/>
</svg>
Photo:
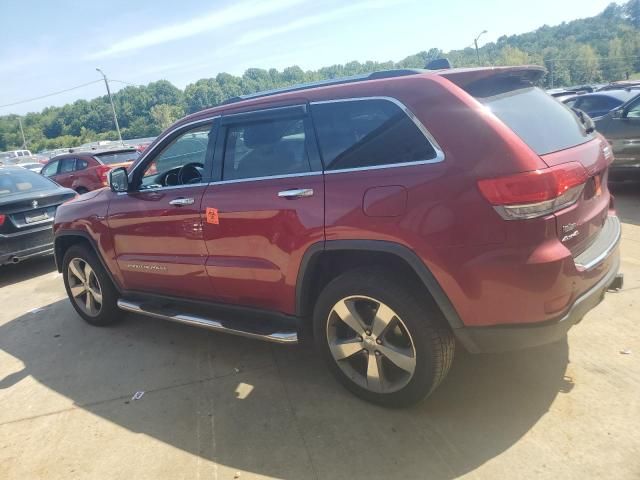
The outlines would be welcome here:
<svg viewBox="0 0 640 480">
<path fill-rule="evenodd" d="M 589 175 L 577 162 L 478 181 L 482 195 L 505 220 L 542 217 L 573 205 Z"/>
</svg>

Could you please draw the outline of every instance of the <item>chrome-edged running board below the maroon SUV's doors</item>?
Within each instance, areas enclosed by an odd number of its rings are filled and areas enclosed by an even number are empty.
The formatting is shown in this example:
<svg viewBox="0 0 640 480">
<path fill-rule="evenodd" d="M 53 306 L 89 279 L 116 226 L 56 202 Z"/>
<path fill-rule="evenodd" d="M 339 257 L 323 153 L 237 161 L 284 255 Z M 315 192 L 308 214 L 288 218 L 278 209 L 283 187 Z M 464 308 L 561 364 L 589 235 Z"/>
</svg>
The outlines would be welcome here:
<svg viewBox="0 0 640 480">
<path fill-rule="evenodd" d="M 298 343 L 298 333 L 295 331 L 276 331 L 273 333 L 258 333 L 250 331 L 249 329 L 243 330 L 241 328 L 232 328 L 225 326 L 219 320 L 212 318 L 206 318 L 204 316 L 191 314 L 191 313 L 177 313 L 163 311 L 161 308 L 146 305 L 141 302 L 134 302 L 130 300 L 118 300 L 118 307 L 122 310 L 132 313 L 138 313 L 140 315 L 146 315 L 149 317 L 160 318 L 162 320 L 169 320 L 171 322 L 185 323 L 187 325 L 193 325 L 195 327 L 207 328 L 216 332 L 230 333 L 232 335 L 239 335 L 241 337 L 254 338 L 257 340 L 264 340 L 273 343 L 284 343 L 289 345 L 295 345 Z"/>
</svg>

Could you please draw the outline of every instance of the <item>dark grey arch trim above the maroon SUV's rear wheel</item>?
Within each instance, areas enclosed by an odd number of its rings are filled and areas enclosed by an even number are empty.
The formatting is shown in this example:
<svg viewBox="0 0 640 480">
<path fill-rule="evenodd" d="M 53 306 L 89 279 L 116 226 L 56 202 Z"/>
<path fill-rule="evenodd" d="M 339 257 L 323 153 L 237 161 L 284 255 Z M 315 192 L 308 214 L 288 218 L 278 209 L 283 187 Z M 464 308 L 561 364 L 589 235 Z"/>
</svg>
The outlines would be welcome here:
<svg viewBox="0 0 640 480">
<path fill-rule="evenodd" d="M 296 284 L 296 315 L 302 318 L 309 317 L 313 309 L 312 298 L 314 294 L 328 283 L 332 278 L 350 268 L 348 262 L 342 264 L 342 270 L 328 278 L 323 275 L 323 265 L 327 259 L 336 258 L 341 261 L 349 257 L 358 257 L 359 261 L 383 261 L 393 262 L 396 268 L 406 269 L 411 272 L 432 297 L 449 326 L 455 330 L 464 326 L 458 312 L 444 292 L 438 280 L 429 268 L 408 247 L 395 242 L 384 240 L 328 240 L 311 245 L 305 252 L 300 263 Z M 393 267 L 392 267 L 393 268 Z M 321 278 L 321 280 L 318 280 Z"/>
</svg>

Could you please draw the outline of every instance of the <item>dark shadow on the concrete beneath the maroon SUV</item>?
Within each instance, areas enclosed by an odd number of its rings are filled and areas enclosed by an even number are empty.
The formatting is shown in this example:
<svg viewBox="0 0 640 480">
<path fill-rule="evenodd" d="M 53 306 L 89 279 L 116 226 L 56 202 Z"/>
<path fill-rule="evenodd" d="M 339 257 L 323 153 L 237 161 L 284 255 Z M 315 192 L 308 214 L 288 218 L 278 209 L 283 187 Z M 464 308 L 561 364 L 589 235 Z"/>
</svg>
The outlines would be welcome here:
<svg viewBox="0 0 640 480">
<path fill-rule="evenodd" d="M 76 406 L 219 465 L 279 478 L 454 478 L 512 446 L 572 387 L 566 342 L 463 352 L 426 402 L 385 410 L 346 393 L 307 347 L 135 316 L 95 328 L 67 300 L 0 326 L 0 349 L 24 363 L 0 379 L 0 423 L 26 416 L 20 399 L 31 376 L 66 397 L 39 402 L 44 410 L 31 415 Z M 136 391 L 145 395 L 133 401 Z"/>
</svg>

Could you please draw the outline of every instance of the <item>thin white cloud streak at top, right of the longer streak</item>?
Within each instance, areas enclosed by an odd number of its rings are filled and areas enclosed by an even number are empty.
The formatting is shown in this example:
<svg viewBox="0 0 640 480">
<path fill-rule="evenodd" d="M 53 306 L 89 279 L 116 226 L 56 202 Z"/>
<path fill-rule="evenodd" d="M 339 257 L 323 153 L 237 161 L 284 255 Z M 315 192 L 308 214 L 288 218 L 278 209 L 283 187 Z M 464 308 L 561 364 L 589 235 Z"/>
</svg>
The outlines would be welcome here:
<svg viewBox="0 0 640 480">
<path fill-rule="evenodd" d="M 234 42 L 234 45 L 252 45 L 262 40 L 265 40 L 267 38 L 274 37 L 276 35 L 281 35 L 283 33 L 288 33 L 293 30 L 300 30 L 302 28 L 311 27 L 313 25 L 320 25 L 320 24 L 328 23 L 334 20 L 340 20 L 341 18 L 347 15 L 351 15 L 353 13 L 356 13 L 362 10 L 387 8 L 392 6 L 398 6 L 402 3 L 405 3 L 405 1 L 378 0 L 378 1 L 354 3 L 352 5 L 347 5 L 345 7 L 336 8 L 335 10 L 329 10 L 323 13 L 308 15 L 306 17 L 293 20 L 280 27 L 265 28 L 262 30 L 253 30 L 241 36 L 238 39 L 238 41 Z"/>
</svg>

